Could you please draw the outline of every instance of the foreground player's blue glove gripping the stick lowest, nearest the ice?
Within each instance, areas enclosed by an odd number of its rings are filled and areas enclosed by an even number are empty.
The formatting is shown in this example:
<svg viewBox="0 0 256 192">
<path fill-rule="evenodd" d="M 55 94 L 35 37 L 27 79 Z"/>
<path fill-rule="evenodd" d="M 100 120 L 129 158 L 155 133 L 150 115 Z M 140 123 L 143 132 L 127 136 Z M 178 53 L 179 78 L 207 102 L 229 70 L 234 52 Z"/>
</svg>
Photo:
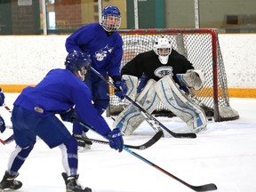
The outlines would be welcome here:
<svg viewBox="0 0 256 192">
<path fill-rule="evenodd" d="M 122 152 L 124 147 L 124 140 L 122 133 L 118 128 L 112 130 L 111 132 L 108 132 L 108 140 L 110 148 L 114 148 L 119 152 Z"/>
</svg>

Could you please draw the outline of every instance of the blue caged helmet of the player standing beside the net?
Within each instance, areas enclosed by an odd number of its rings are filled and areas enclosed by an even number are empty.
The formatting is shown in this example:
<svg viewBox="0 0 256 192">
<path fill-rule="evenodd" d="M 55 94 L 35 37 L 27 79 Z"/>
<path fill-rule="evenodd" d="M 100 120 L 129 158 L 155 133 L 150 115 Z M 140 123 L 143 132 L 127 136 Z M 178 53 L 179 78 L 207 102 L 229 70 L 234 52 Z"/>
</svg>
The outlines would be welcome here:
<svg viewBox="0 0 256 192">
<path fill-rule="evenodd" d="M 113 32 L 120 28 L 121 13 L 116 6 L 107 6 L 104 8 L 100 25 L 108 32 Z"/>
</svg>

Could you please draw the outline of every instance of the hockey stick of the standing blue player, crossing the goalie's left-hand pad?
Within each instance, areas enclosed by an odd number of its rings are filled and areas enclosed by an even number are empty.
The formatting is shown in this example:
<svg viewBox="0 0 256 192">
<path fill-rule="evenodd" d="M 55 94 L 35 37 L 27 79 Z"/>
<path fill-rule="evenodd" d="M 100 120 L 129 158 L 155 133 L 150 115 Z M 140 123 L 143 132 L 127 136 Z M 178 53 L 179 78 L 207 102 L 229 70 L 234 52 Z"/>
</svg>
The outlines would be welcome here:
<svg viewBox="0 0 256 192">
<path fill-rule="evenodd" d="M 114 84 L 112 84 L 111 82 L 109 82 L 104 76 L 102 76 L 96 69 L 92 68 L 92 71 L 99 76 L 103 81 L 105 81 L 107 84 L 109 84 L 110 86 L 112 86 L 114 89 L 116 89 L 116 86 Z M 196 133 L 194 132 L 188 132 L 188 133 L 178 133 L 178 132 L 172 132 L 171 130 L 169 130 L 167 127 L 164 126 L 164 124 L 161 124 L 154 116 L 151 116 L 147 110 L 145 110 L 144 108 L 142 108 L 140 106 L 139 103 L 137 103 L 136 101 L 132 100 L 128 95 L 124 94 L 124 98 L 126 100 L 129 100 L 132 105 L 134 105 L 139 111 L 140 113 L 145 117 L 145 119 L 147 120 L 148 124 L 150 126 L 152 126 L 155 130 L 159 128 L 159 126 L 164 129 L 166 132 L 168 132 L 169 134 L 172 135 L 172 137 L 174 138 L 196 138 Z"/>
</svg>

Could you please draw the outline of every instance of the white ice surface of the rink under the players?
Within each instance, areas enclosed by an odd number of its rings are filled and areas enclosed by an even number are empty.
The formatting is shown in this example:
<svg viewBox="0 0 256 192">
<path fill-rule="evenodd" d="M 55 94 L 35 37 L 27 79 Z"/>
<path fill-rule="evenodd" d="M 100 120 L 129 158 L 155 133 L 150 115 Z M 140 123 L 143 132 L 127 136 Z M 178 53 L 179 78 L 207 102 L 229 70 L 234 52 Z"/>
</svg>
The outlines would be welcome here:
<svg viewBox="0 0 256 192">
<path fill-rule="evenodd" d="M 12 108 L 16 93 L 6 93 L 5 103 Z M 165 137 L 146 150 L 132 149 L 148 161 L 172 173 L 191 185 L 214 183 L 221 192 L 256 191 L 256 99 L 230 99 L 240 118 L 235 121 L 210 122 L 207 130 L 197 133 L 196 139 Z M 12 125 L 11 114 L 0 108 L 7 125 Z M 173 132 L 179 132 L 185 124 L 177 117 L 157 119 Z M 106 117 L 109 125 L 112 120 Z M 71 129 L 71 124 L 67 124 Z M 124 142 L 139 145 L 149 140 L 155 132 L 147 123 L 140 125 Z M 11 129 L 0 133 L 6 139 Z M 102 139 L 94 132 L 89 137 Z M 0 179 L 4 175 L 8 158 L 15 143 L 0 146 Z M 92 149 L 79 153 L 79 180 L 93 192 L 188 192 L 192 189 L 157 170 L 136 156 L 123 151 L 118 153 L 107 145 L 92 145 Z M 65 191 L 60 148 L 50 149 L 42 140 L 37 140 L 34 150 L 20 169 L 17 178 L 23 182 L 21 191 Z"/>
</svg>

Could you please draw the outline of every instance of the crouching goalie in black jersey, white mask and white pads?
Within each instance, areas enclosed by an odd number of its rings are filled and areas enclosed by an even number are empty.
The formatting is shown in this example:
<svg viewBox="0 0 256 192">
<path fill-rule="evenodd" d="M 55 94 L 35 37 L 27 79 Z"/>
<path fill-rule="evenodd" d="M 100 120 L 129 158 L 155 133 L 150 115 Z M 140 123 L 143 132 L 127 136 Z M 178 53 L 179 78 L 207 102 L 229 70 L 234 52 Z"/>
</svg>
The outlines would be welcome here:
<svg viewBox="0 0 256 192">
<path fill-rule="evenodd" d="M 167 38 L 158 38 L 153 47 L 151 51 L 138 54 L 122 68 L 128 96 L 139 102 L 149 114 L 160 100 L 163 101 L 172 113 L 188 124 L 192 132 L 198 132 L 206 126 L 207 119 L 203 109 L 185 92 L 189 93 L 190 88 L 202 88 L 203 73 L 195 70 L 192 63 L 173 50 Z M 138 79 L 140 84 L 137 88 Z M 124 135 L 130 135 L 143 120 L 140 112 L 130 105 L 116 117 L 114 125 L 122 129 Z"/>
</svg>

